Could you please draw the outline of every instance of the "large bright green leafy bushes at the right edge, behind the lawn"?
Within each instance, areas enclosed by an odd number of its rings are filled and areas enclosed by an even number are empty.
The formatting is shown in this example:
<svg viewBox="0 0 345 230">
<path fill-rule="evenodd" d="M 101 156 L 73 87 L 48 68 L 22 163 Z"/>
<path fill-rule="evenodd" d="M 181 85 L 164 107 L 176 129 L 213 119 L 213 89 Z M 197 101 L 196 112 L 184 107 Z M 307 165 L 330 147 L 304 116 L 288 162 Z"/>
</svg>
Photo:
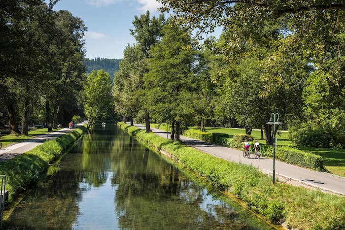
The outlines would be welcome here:
<svg viewBox="0 0 345 230">
<path fill-rule="evenodd" d="M 341 65 L 341 63 L 336 65 Z M 334 68 L 338 68 L 337 66 Z M 308 78 L 303 92 L 306 119 L 290 127 L 290 138 L 297 145 L 345 147 L 344 72 L 341 75 L 333 79 L 330 73 L 317 69 Z"/>
</svg>

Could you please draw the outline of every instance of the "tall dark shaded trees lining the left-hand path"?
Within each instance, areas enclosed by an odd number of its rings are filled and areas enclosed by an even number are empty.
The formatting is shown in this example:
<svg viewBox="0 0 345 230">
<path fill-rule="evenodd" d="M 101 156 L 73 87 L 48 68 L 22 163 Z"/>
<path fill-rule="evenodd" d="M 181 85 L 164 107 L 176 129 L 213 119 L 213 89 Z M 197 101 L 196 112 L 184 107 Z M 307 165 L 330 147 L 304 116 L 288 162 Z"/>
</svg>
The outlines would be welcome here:
<svg viewBox="0 0 345 230">
<path fill-rule="evenodd" d="M 11 132 L 28 134 L 28 123 L 37 121 L 51 130 L 83 113 L 86 27 L 69 11 L 54 11 L 56 2 L 1 2 L 0 109 Z"/>
</svg>

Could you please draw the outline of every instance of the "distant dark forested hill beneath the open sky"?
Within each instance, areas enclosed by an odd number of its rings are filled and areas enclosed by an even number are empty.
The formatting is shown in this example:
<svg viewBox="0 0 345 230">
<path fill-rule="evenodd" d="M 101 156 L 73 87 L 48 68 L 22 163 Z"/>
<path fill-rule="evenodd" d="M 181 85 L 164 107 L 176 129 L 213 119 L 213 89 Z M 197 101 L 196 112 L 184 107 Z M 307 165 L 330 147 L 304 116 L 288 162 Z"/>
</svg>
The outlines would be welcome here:
<svg viewBox="0 0 345 230">
<path fill-rule="evenodd" d="M 92 70 L 103 69 L 107 72 L 111 81 L 114 78 L 114 73 L 119 70 L 119 62 L 121 59 L 108 59 L 108 58 L 95 58 L 95 59 L 85 59 L 84 65 L 87 67 L 86 73 L 91 73 Z"/>
</svg>

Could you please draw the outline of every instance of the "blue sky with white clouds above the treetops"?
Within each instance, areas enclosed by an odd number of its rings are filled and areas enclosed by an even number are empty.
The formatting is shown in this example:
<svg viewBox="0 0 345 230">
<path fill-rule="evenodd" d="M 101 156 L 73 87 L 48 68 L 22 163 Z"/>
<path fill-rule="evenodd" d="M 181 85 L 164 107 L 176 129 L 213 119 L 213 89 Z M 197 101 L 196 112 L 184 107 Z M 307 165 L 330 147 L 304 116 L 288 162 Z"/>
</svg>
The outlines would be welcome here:
<svg viewBox="0 0 345 230">
<path fill-rule="evenodd" d="M 158 16 L 159 6 L 156 0 L 60 0 L 54 9 L 69 10 L 84 21 L 87 58 L 120 59 L 126 45 L 135 43 L 129 31 L 134 16 L 146 10 Z M 219 34 L 217 30 L 214 35 Z"/>
</svg>

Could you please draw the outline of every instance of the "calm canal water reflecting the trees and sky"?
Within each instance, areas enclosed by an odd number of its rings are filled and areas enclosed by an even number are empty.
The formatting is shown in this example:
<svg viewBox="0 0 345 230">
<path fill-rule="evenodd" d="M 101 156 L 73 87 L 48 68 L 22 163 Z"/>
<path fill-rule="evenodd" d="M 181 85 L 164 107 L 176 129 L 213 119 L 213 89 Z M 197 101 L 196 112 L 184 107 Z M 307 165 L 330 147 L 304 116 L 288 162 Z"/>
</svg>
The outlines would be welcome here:
<svg viewBox="0 0 345 230">
<path fill-rule="evenodd" d="M 95 125 L 29 191 L 7 229 L 271 229 L 115 125 Z"/>
</svg>

